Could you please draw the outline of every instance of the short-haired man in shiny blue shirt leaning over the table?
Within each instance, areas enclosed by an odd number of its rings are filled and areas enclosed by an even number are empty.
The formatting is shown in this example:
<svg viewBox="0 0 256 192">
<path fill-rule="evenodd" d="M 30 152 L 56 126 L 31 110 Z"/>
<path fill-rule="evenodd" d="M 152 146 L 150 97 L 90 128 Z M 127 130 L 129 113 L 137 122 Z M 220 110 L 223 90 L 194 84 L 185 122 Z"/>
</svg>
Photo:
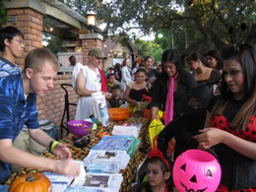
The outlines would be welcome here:
<svg viewBox="0 0 256 192">
<path fill-rule="evenodd" d="M 28 54 L 23 73 L 2 73 L 6 69 L 0 68 L 0 182 L 10 176 L 10 163 L 79 175 L 80 166 L 71 159 L 67 146 L 50 138 L 38 124 L 36 96 L 44 96 L 53 89 L 58 69 L 57 58 L 44 48 L 35 48 Z M 49 148 L 61 160 L 33 156 L 15 148 L 12 143 L 24 125 L 28 126 L 33 140 Z"/>
</svg>

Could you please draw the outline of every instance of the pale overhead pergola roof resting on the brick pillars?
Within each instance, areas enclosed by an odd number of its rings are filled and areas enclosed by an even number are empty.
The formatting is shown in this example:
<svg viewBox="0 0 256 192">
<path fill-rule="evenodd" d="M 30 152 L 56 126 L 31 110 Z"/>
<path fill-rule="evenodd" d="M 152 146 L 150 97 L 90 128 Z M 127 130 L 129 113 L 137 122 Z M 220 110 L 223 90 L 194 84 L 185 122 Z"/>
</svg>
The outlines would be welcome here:
<svg viewBox="0 0 256 192">
<path fill-rule="evenodd" d="M 6 1 L 7 8 L 30 7 L 44 15 L 43 31 L 61 37 L 76 37 L 80 33 L 90 32 L 87 19 L 57 0 L 11 0 Z M 95 32 L 101 33 L 98 28 Z"/>
</svg>

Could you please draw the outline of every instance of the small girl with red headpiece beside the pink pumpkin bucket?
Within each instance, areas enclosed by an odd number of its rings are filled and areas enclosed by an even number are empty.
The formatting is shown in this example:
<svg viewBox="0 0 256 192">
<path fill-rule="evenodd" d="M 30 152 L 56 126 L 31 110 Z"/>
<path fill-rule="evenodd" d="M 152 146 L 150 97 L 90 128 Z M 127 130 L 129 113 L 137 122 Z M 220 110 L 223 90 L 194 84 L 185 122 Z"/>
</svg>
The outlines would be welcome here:
<svg viewBox="0 0 256 192">
<path fill-rule="evenodd" d="M 144 182 L 137 192 L 172 191 L 170 164 L 158 149 L 149 154 L 147 177 L 148 181 Z"/>
</svg>

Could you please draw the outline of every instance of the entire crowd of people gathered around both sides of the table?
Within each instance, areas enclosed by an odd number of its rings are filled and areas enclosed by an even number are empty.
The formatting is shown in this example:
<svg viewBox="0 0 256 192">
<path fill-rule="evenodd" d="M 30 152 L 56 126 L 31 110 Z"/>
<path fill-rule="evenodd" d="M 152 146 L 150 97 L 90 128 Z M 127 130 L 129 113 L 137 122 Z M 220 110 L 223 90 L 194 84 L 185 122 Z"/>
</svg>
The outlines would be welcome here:
<svg viewBox="0 0 256 192">
<path fill-rule="evenodd" d="M 38 129 L 36 96 L 53 88 L 58 61 L 49 50 L 35 48 L 22 70 L 15 60 L 24 49 L 22 32 L 13 27 L 0 31 L 0 182 L 10 176 L 10 163 L 76 176 L 79 165 L 71 159 L 68 146 Z M 102 92 L 109 107 L 136 107 L 150 96 L 147 107 L 152 119 L 165 125 L 158 149 L 148 156 L 148 181 L 139 191 L 175 191 L 171 164 L 188 149 L 214 152 L 218 157 L 222 167 L 218 191 L 256 190 L 255 46 L 231 44 L 220 52 L 192 52 L 185 59 L 179 51 L 166 49 L 160 61 L 152 56 L 142 63 L 124 58 L 107 73 L 99 67 L 104 58 L 100 48 L 92 48 L 88 56 L 86 64 L 70 57 L 71 83 L 80 96 L 75 119 L 89 118 L 94 113 L 92 94 Z M 159 110 L 164 118 L 160 119 Z M 42 159 L 16 149 L 12 142 L 24 125 L 34 140 L 63 160 Z M 176 150 L 170 159 L 166 148 L 172 138 Z"/>
</svg>

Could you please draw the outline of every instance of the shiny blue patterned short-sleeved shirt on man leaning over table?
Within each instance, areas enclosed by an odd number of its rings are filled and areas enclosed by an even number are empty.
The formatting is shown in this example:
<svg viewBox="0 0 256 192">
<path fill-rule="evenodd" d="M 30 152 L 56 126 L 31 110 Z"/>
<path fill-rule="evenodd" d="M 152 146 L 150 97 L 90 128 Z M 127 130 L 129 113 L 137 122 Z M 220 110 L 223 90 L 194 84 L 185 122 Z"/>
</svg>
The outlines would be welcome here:
<svg viewBox="0 0 256 192">
<path fill-rule="evenodd" d="M 0 140 L 18 136 L 24 125 L 39 128 L 36 95 L 25 98 L 21 68 L 10 62 L 0 62 Z M 1 163 L 1 161 L 0 161 Z M 6 167 L 8 163 L 4 163 Z M 5 174 L 2 170 L 1 174 Z"/>
</svg>

